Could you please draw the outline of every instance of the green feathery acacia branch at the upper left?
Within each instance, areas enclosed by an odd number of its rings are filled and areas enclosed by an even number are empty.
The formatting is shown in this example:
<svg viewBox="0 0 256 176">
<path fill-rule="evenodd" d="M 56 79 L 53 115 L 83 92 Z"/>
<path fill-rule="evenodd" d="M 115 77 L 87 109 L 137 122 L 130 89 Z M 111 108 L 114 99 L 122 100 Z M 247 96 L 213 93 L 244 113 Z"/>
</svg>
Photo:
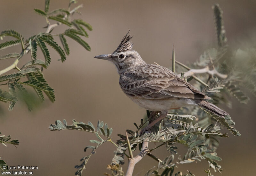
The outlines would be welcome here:
<svg viewBox="0 0 256 176">
<path fill-rule="evenodd" d="M 45 95 L 51 102 L 55 101 L 54 89 L 47 83 L 42 72 L 43 68 L 48 68 L 51 64 L 52 58 L 49 47 L 52 47 L 60 55 L 59 60 L 61 62 L 64 62 L 70 53 L 66 37 L 75 40 L 87 51 L 91 51 L 91 47 L 83 38 L 88 38 L 87 31 L 92 31 L 92 26 L 82 19 L 72 20 L 71 18 L 74 13 L 80 13 L 77 10 L 82 7 L 82 5 L 79 5 L 70 10 L 71 4 L 76 2 L 75 0 L 70 0 L 67 9 L 49 11 L 50 0 L 45 0 L 44 10 L 34 9 L 37 14 L 46 19 L 46 32 L 40 32 L 28 39 L 24 39 L 19 32 L 13 29 L 4 30 L 0 33 L 2 40 L 4 37 L 12 38 L 12 40 L 1 43 L 0 50 L 15 45 L 21 46 L 20 53 L 9 53 L 0 56 L 0 61 L 16 58 L 11 66 L 16 68 L 17 72 L 5 74 L 11 70 L 9 67 L 0 70 L 0 101 L 9 103 L 9 111 L 14 108 L 18 100 L 23 100 L 29 110 L 32 110 L 37 102 L 43 102 Z M 54 27 L 58 25 L 67 25 L 68 29 L 61 33 L 53 33 Z M 38 58 L 38 52 L 43 53 L 44 59 Z M 26 53 L 30 53 L 31 59 L 19 68 L 18 62 Z M 29 87 L 35 90 L 38 101 L 35 101 L 35 97 L 29 93 Z"/>
</svg>

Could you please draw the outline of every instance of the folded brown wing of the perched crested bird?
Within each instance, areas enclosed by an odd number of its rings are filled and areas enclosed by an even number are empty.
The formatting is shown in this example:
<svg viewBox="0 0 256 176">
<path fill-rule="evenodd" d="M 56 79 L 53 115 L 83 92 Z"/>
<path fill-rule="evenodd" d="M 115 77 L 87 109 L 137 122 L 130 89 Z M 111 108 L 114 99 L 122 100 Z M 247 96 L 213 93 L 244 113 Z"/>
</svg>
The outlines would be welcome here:
<svg viewBox="0 0 256 176">
<path fill-rule="evenodd" d="M 168 68 L 143 64 L 120 75 L 119 84 L 125 94 L 147 99 L 209 99 Z"/>
</svg>

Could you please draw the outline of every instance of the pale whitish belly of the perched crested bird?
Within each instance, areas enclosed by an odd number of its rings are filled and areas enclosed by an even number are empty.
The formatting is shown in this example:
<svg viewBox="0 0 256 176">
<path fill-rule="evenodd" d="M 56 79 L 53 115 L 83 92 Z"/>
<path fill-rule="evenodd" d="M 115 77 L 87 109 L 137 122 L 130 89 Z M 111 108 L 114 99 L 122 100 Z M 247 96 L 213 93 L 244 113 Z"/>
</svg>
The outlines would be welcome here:
<svg viewBox="0 0 256 176">
<path fill-rule="evenodd" d="M 145 99 L 138 97 L 129 97 L 133 102 L 140 107 L 148 109 L 150 111 L 168 111 L 169 109 L 177 109 L 186 106 L 197 105 L 191 99 Z"/>
</svg>

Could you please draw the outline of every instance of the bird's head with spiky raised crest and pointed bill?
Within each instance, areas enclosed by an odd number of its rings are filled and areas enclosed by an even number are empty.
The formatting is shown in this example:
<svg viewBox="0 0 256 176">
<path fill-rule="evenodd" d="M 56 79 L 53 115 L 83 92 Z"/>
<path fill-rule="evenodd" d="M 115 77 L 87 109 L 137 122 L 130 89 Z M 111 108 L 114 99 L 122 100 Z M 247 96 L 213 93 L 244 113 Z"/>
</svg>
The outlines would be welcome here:
<svg viewBox="0 0 256 176">
<path fill-rule="evenodd" d="M 132 50 L 133 44 L 130 41 L 132 37 L 128 33 L 124 36 L 116 51 L 111 54 L 95 56 L 94 58 L 110 60 L 116 65 L 118 74 L 123 73 L 127 68 L 144 64 L 145 61 L 141 59 L 139 53 Z"/>
</svg>

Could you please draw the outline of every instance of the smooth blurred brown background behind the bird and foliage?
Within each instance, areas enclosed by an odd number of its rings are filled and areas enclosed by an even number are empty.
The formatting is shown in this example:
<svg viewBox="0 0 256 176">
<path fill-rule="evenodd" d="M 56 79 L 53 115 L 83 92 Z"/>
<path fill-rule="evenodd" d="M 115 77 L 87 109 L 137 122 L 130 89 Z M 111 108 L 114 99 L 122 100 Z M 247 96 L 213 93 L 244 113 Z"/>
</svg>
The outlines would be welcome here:
<svg viewBox="0 0 256 176">
<path fill-rule="evenodd" d="M 68 0 L 51 0 L 50 11 L 56 8 L 67 8 Z M 57 61 L 58 54 L 50 51 L 52 63 L 44 70 L 46 80 L 56 92 L 56 102 L 49 100 L 38 109 L 28 112 L 27 107 L 17 103 L 13 111 L 8 112 L 8 105 L 1 103 L 4 112 L 0 114 L 0 131 L 3 135 L 11 135 L 20 141 L 15 148 L 0 146 L 0 156 L 9 166 L 38 166 L 34 175 L 74 175 L 75 165 L 80 165 L 84 147 L 91 145 L 90 139 L 95 135 L 82 131 L 50 131 L 48 126 L 55 120 L 72 119 L 97 124 L 100 119 L 113 128 L 113 141 L 119 139 L 116 134 L 125 129 L 135 129 L 133 122 L 139 123 L 146 110 L 140 108 L 124 95 L 118 84 L 118 74 L 113 64 L 105 60 L 94 59 L 99 54 L 112 53 L 123 36 L 131 29 L 133 48 L 138 51 L 147 63 L 157 62 L 164 67 L 171 67 L 172 44 L 175 45 L 176 60 L 187 63 L 196 61 L 203 51 L 216 47 L 216 37 L 212 13 L 212 5 L 220 4 L 223 10 L 224 25 L 228 44 L 233 49 L 244 47 L 250 43 L 255 48 L 256 1 L 120 1 L 120 0 L 79 0 L 84 4 L 80 9 L 83 15 L 75 15 L 90 23 L 93 31 L 89 32 L 86 42 L 92 48 L 86 51 L 73 40 L 68 39 L 70 55 L 64 63 Z M 78 5 L 76 4 L 76 5 Z M 75 6 L 73 6 L 75 7 Z M 44 0 L 1 0 L 0 31 L 14 29 L 25 39 L 39 32 L 45 32 L 44 17 L 37 15 L 34 8 L 44 9 Z M 54 32 L 64 31 L 63 25 Z M 254 43 L 253 43 L 254 42 Z M 0 55 L 20 52 L 20 46 L 1 50 Z M 38 58 L 43 55 L 38 50 Z M 30 55 L 23 57 L 20 65 L 28 61 Z M 11 65 L 13 60 L 1 60 L 0 69 Z M 11 71 L 10 73 L 12 73 Z M 214 175 L 252 175 L 256 172 L 256 138 L 255 102 L 251 98 L 247 105 L 240 104 L 234 98 L 233 109 L 228 111 L 236 122 L 236 129 L 241 137 L 230 137 L 221 140 L 217 150 L 222 158 L 219 165 L 223 173 Z M 84 175 L 103 175 L 106 166 L 111 163 L 115 146 L 105 144 L 93 155 Z M 178 155 L 185 152 L 178 149 Z M 155 152 L 159 158 L 169 155 L 163 148 Z M 125 160 L 127 162 L 127 160 Z M 134 175 L 144 175 L 148 169 L 156 165 L 149 157 L 143 158 L 135 166 Z M 196 176 L 206 173 L 208 163 L 192 163 L 180 165 L 176 171 L 184 173 L 188 169 Z M 123 166 L 126 170 L 126 165 Z M 214 172 L 213 170 L 211 170 Z"/>
</svg>

